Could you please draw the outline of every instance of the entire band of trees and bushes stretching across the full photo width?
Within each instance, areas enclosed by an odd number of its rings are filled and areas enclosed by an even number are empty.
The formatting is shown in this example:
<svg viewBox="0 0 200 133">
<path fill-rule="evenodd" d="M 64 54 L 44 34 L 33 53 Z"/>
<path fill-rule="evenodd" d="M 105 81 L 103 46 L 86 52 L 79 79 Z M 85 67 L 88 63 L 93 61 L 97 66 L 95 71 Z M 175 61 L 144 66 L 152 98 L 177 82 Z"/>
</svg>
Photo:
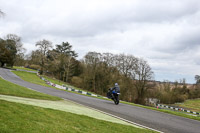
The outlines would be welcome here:
<svg viewBox="0 0 200 133">
<path fill-rule="evenodd" d="M 36 50 L 25 56 L 21 38 L 9 34 L 0 39 L 1 66 L 17 65 L 40 70 L 41 74 L 62 80 L 71 85 L 97 94 L 106 95 L 107 90 L 118 83 L 120 99 L 140 104 L 148 98 L 172 104 L 200 97 L 200 85 L 188 87 L 185 80 L 180 83 L 156 83 L 148 62 L 133 55 L 88 52 L 81 60 L 68 42 L 56 44 L 40 40 Z M 199 82 L 200 76 L 195 79 Z M 197 82 L 197 83 L 198 83 Z"/>
</svg>

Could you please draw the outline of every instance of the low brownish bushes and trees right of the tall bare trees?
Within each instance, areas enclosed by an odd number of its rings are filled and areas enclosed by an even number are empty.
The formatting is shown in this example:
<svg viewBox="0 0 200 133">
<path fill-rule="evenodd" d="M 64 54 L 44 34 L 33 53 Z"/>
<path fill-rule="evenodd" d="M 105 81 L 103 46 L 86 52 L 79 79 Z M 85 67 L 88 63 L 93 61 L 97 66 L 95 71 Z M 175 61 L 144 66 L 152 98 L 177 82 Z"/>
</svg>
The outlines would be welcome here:
<svg viewBox="0 0 200 133">
<path fill-rule="evenodd" d="M 188 85 L 185 79 L 176 81 L 174 84 L 164 82 L 155 88 L 156 98 L 161 103 L 173 104 L 181 103 L 187 99 L 200 98 L 200 84 Z"/>
</svg>

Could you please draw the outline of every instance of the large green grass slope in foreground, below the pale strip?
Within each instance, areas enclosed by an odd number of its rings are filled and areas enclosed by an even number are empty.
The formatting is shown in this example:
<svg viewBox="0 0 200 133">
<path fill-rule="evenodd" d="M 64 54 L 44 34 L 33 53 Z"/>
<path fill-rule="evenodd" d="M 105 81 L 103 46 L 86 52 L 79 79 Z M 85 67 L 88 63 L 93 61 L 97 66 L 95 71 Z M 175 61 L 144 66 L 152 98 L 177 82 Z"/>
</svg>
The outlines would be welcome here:
<svg viewBox="0 0 200 133">
<path fill-rule="evenodd" d="M 88 116 L 0 100 L 0 132 L 14 133 L 149 133 Z"/>
</svg>

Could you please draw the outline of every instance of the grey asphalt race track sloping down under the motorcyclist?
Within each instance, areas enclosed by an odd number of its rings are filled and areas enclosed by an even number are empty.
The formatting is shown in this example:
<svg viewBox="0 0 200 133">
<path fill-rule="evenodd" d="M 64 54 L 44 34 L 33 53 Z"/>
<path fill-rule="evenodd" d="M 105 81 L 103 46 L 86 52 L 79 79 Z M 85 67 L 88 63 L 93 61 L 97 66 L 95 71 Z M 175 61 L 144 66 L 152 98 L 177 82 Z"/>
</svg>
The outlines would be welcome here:
<svg viewBox="0 0 200 133">
<path fill-rule="evenodd" d="M 115 105 L 112 101 L 101 100 L 32 84 L 20 79 L 18 76 L 10 72 L 9 69 L 0 68 L 0 76 L 15 84 L 31 88 L 42 93 L 68 99 L 162 132 L 200 133 L 200 121 L 122 103 Z"/>
</svg>

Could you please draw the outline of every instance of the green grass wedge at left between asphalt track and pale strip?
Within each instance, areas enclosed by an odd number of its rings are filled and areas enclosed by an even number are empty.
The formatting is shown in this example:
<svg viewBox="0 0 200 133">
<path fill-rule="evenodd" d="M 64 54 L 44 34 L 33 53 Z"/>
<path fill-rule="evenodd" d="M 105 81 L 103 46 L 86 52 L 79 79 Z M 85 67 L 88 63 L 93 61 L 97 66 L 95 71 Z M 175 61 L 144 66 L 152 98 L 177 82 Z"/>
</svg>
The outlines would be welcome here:
<svg viewBox="0 0 200 133">
<path fill-rule="evenodd" d="M 8 82 L 2 78 L 0 78 L 0 94 L 35 99 L 61 100 L 61 98 L 30 90 L 28 88 Z"/>
</svg>

